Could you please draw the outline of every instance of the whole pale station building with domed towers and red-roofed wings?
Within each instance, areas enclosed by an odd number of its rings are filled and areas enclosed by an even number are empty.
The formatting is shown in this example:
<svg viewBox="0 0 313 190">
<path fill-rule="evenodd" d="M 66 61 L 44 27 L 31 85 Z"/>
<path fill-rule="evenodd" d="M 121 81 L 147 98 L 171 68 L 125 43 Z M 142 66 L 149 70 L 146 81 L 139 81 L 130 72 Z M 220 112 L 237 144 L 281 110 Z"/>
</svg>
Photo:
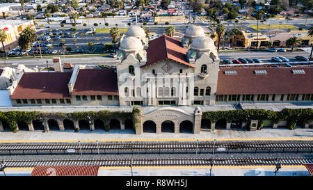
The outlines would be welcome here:
<svg viewBox="0 0 313 190">
<path fill-rule="evenodd" d="M 189 27 L 182 41 L 167 35 L 148 41 L 145 31 L 133 26 L 120 42 L 115 68 L 75 65 L 71 72 L 64 72 L 61 61 L 55 61 L 56 72 L 25 72 L 8 92 L 12 109 L 88 106 L 122 110 L 139 106 L 142 127 L 136 134 L 145 128 L 179 133 L 184 126 L 199 134 L 204 111 L 251 105 L 312 108 L 312 67 L 220 68 L 219 63 L 214 40 L 200 26 Z M 129 118 L 118 120 L 121 129 L 126 120 Z M 63 121 L 57 122 L 63 126 Z M 167 125 L 170 127 L 163 130 Z"/>
</svg>

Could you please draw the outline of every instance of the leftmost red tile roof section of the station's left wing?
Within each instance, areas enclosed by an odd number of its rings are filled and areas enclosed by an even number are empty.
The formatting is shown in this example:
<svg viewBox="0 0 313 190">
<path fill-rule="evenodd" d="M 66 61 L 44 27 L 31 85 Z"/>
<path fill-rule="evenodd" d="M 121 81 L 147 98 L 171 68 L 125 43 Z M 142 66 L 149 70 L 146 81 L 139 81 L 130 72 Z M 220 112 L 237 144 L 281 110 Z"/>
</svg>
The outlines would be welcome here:
<svg viewBox="0 0 313 190">
<path fill-rule="evenodd" d="M 10 99 L 70 98 L 72 72 L 25 72 Z"/>
</svg>

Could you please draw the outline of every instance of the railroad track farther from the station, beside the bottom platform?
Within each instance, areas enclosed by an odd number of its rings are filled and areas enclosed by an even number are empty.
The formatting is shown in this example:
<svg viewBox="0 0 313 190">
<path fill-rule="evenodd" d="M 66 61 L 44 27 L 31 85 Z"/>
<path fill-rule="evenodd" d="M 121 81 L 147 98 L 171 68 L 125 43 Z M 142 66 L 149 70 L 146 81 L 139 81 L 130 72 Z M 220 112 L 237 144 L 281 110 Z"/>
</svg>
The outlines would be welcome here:
<svg viewBox="0 0 313 190">
<path fill-rule="evenodd" d="M 133 167 L 136 166 L 272 166 L 276 158 L 214 158 L 214 159 L 62 159 L 62 160 L 8 160 L 6 167 L 34 166 L 102 166 Z M 279 159 L 282 166 L 313 163 L 313 158 L 285 157 Z"/>
</svg>

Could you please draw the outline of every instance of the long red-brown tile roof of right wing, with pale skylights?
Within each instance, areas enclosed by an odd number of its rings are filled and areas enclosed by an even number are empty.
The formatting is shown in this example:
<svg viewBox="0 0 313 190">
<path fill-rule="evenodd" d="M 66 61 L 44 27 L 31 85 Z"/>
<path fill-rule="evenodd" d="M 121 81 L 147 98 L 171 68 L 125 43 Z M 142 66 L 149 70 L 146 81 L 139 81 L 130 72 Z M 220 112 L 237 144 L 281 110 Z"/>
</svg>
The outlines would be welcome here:
<svg viewBox="0 0 313 190">
<path fill-rule="evenodd" d="M 237 74 L 225 74 L 234 70 Z M 266 70 L 267 74 L 255 74 Z M 305 74 L 293 74 L 291 70 L 304 70 Z M 312 94 L 313 68 L 220 68 L 217 95 L 249 94 Z"/>
</svg>

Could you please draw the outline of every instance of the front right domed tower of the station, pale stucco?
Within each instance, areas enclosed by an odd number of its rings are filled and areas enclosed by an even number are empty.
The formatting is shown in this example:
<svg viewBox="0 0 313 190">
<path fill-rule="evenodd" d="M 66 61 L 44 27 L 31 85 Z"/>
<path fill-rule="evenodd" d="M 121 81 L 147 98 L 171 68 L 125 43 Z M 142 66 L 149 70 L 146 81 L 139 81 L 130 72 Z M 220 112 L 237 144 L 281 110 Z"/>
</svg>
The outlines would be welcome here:
<svg viewBox="0 0 313 190">
<path fill-rule="evenodd" d="M 189 63 L 195 64 L 195 101 L 214 105 L 220 63 L 214 41 L 207 36 L 195 38 L 187 52 L 187 59 Z"/>
</svg>

